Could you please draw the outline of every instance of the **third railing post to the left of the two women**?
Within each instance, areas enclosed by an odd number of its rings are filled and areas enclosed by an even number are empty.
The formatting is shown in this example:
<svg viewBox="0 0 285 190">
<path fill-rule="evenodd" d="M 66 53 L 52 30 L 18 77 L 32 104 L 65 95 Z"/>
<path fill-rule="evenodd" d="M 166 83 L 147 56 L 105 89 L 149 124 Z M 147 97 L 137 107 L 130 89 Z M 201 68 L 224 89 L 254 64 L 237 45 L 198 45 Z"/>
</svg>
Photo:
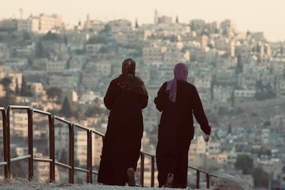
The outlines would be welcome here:
<svg viewBox="0 0 285 190">
<path fill-rule="evenodd" d="M 50 182 L 55 182 L 54 116 L 48 116 L 50 130 Z"/>
</svg>

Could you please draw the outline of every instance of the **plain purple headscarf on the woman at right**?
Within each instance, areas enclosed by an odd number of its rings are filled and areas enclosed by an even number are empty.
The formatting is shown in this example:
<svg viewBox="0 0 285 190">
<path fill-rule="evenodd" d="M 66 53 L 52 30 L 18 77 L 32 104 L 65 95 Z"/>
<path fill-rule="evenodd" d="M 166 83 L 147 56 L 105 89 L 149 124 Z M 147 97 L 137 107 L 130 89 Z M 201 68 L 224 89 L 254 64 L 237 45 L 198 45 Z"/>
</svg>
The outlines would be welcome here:
<svg viewBox="0 0 285 190">
<path fill-rule="evenodd" d="M 188 67 L 185 63 L 177 63 L 173 70 L 174 78 L 167 82 L 166 92 L 169 92 L 169 101 L 176 102 L 177 81 L 187 81 Z"/>
</svg>

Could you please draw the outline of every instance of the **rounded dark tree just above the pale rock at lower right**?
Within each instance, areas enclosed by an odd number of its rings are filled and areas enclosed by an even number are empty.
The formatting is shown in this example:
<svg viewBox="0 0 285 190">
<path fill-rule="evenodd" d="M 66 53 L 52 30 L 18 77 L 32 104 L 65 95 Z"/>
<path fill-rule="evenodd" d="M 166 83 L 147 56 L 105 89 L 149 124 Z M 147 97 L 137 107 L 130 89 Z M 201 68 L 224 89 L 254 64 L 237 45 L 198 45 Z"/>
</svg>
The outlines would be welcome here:
<svg viewBox="0 0 285 190">
<path fill-rule="evenodd" d="M 242 174 L 251 174 L 253 171 L 253 158 L 249 154 L 237 155 L 235 168 L 242 169 Z"/>
</svg>

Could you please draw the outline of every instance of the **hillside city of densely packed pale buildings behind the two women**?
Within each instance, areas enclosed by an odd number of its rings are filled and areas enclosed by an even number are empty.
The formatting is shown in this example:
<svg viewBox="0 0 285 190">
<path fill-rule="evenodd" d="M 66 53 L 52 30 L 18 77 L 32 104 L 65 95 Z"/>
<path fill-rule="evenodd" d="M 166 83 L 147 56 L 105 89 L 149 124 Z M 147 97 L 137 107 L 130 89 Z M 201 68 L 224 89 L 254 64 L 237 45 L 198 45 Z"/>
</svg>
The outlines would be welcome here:
<svg viewBox="0 0 285 190">
<path fill-rule="evenodd" d="M 206 23 L 154 11 L 154 23 L 89 18 L 77 25 L 58 14 L 0 18 L 0 106 L 26 105 L 105 134 L 109 111 L 103 98 L 121 73 L 124 59 L 136 61 L 136 75 L 149 93 L 143 110 L 142 151 L 155 154 L 160 112 L 158 89 L 173 78 L 178 62 L 189 67 L 212 127 L 204 142 L 198 123 L 189 165 L 211 173 L 242 176 L 252 187 L 285 186 L 285 41 L 267 41 L 263 32 L 240 32 L 233 21 Z M 27 152 L 27 114 L 14 112 L 11 155 Z M 1 125 L 1 124 L 0 124 Z M 48 155 L 48 127 L 34 118 L 34 155 Z M 55 126 L 56 158 L 66 160 L 68 128 Z M 76 131 L 76 165 L 86 162 L 82 131 Z M 102 142 L 92 162 L 98 167 Z M 3 127 L 0 127 L 3 145 Z M 0 148 L 3 158 L 3 147 Z M 38 166 L 44 180 L 46 163 Z M 41 171 L 42 170 L 42 171 Z M 56 169 L 56 178 L 66 178 Z M 3 169 L 0 169 L 3 178 Z M 21 165 L 14 169 L 21 176 Z M 16 175 L 16 174 L 15 174 Z M 191 173 L 189 174 L 191 175 Z M 82 177 L 84 178 L 84 177 Z M 81 182 L 80 177 L 77 182 Z"/>
</svg>

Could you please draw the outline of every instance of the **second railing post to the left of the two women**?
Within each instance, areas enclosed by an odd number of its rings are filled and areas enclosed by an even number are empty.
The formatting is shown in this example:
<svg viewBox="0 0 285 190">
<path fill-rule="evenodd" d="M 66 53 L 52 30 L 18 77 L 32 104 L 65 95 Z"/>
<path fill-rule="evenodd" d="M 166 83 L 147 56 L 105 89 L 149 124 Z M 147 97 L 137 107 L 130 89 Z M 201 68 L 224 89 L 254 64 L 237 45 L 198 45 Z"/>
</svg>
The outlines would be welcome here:
<svg viewBox="0 0 285 190">
<path fill-rule="evenodd" d="M 70 135 L 70 145 L 69 145 L 69 165 L 71 166 L 70 173 L 69 173 L 69 180 L 70 183 L 74 183 L 74 124 L 68 125 L 69 126 L 69 135 Z"/>
</svg>

